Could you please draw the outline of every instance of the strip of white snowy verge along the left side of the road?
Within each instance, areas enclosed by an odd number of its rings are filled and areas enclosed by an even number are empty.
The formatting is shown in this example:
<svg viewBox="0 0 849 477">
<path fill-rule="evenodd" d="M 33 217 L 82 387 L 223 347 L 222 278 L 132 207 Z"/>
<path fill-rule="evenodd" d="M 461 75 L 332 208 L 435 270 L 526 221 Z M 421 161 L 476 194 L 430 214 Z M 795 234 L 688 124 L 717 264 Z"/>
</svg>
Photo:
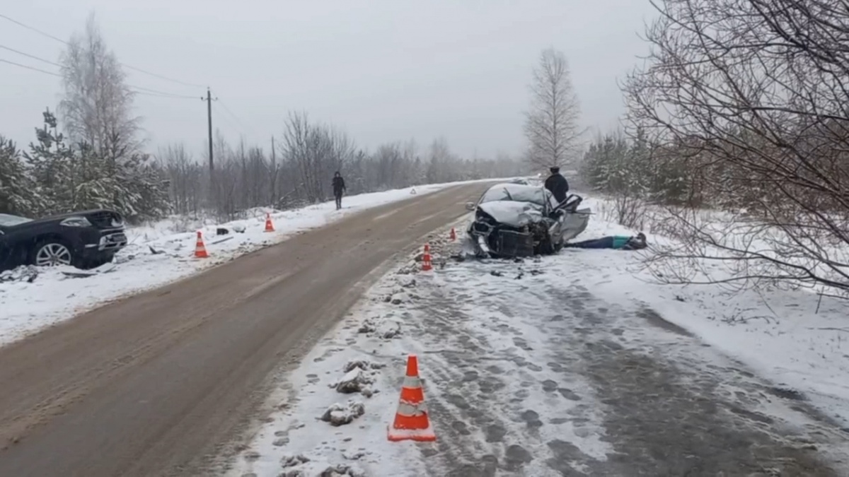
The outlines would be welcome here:
<svg viewBox="0 0 849 477">
<path fill-rule="evenodd" d="M 414 189 L 415 194 L 430 194 L 458 183 L 464 182 L 424 185 Z M 19 340 L 26 334 L 111 300 L 186 278 L 358 210 L 409 199 L 415 196 L 412 193 L 413 188 L 404 188 L 348 196 L 344 199 L 342 210 L 335 210 L 333 202 L 297 210 L 269 209 L 267 211 L 272 214 L 275 228 L 273 233 L 264 232 L 266 210 L 256 210 L 256 216 L 250 220 L 217 226 L 208 222 L 169 219 L 147 227 L 128 229 L 130 244 L 127 248 L 116 255 L 114 263 L 91 273 L 70 267 L 42 269 L 37 271 L 37 277 L 30 283 L 27 277 L 31 272 L 25 267 L 3 272 L 5 278 L 14 279 L 0 279 L 0 345 Z M 239 226 L 245 227 L 244 233 L 233 231 Z M 225 227 L 230 233 L 216 236 L 217 227 Z M 209 259 L 193 258 L 198 230 L 203 233 Z"/>
</svg>

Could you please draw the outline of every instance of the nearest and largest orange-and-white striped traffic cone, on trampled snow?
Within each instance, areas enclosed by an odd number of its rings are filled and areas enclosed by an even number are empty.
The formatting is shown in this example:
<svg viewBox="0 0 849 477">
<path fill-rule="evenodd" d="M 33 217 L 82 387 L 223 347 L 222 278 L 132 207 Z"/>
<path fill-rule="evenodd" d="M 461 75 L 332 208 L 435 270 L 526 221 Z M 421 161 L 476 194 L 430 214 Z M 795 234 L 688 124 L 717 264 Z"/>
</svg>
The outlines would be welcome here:
<svg viewBox="0 0 849 477">
<path fill-rule="evenodd" d="M 395 412 L 395 422 L 389 427 L 390 441 L 436 441 L 430 427 L 427 407 L 424 405 L 424 390 L 419 379 L 419 359 L 416 355 L 407 358 L 407 376 L 401 387 L 401 400 Z"/>
</svg>

